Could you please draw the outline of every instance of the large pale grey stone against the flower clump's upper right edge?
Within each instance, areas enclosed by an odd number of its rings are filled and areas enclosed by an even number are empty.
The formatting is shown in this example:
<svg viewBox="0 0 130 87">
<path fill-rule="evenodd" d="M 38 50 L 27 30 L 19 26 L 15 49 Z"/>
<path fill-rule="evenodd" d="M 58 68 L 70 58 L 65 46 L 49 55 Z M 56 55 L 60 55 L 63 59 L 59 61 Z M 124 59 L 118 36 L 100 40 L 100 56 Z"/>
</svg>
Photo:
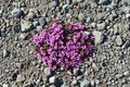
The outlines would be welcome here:
<svg viewBox="0 0 130 87">
<path fill-rule="evenodd" d="M 103 41 L 103 34 L 101 32 L 93 30 L 92 34 L 95 37 L 95 39 L 94 39 L 95 45 L 99 45 Z"/>
</svg>

